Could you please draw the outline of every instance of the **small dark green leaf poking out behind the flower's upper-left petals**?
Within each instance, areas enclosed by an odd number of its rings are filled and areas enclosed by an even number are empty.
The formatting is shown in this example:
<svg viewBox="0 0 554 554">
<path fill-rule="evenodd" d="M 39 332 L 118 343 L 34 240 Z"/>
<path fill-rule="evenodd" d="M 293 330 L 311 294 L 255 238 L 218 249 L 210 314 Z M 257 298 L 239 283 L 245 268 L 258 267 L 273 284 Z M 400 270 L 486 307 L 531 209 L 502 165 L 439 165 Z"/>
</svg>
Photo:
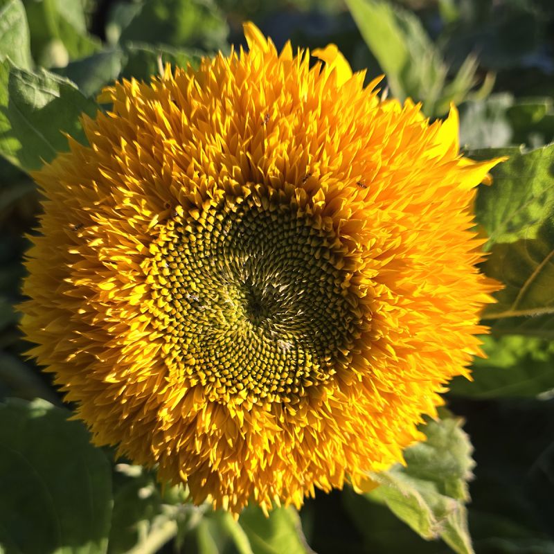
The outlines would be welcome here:
<svg viewBox="0 0 554 554">
<path fill-rule="evenodd" d="M 127 63 L 121 71 L 120 78 L 148 81 L 152 75 L 159 75 L 161 64 L 186 67 L 187 64 L 197 67 L 202 53 L 197 50 L 172 48 L 165 44 L 154 46 L 141 42 L 131 42 L 125 46 Z"/>
</svg>

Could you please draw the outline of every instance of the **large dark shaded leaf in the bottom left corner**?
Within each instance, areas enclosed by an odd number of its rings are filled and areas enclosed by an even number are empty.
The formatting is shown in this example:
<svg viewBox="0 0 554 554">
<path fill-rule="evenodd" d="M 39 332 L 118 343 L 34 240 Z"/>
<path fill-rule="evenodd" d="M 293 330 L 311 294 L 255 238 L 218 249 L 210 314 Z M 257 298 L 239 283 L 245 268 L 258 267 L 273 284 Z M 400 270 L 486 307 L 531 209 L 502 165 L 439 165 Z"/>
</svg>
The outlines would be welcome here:
<svg viewBox="0 0 554 554">
<path fill-rule="evenodd" d="M 6 553 L 105 553 L 107 458 L 44 400 L 0 404 L 0 544 Z"/>
</svg>

